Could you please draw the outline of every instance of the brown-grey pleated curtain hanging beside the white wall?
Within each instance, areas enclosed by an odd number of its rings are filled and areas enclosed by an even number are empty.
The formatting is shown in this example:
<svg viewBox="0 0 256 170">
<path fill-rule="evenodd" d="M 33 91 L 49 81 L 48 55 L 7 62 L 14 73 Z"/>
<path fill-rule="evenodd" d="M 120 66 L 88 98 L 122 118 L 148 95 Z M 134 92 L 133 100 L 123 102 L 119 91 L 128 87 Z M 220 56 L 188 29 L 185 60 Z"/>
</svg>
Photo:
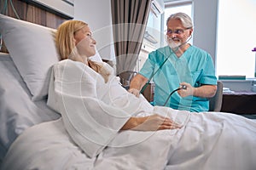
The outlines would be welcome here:
<svg viewBox="0 0 256 170">
<path fill-rule="evenodd" d="M 150 5 L 151 0 L 111 0 L 117 75 L 137 64 Z"/>
</svg>

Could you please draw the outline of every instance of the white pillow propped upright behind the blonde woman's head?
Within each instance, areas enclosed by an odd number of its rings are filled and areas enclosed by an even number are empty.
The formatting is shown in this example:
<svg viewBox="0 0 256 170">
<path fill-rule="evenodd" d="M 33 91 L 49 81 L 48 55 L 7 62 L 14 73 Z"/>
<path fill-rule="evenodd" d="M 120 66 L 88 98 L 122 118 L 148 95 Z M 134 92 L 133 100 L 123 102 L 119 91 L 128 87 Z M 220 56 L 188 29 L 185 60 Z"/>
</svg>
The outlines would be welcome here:
<svg viewBox="0 0 256 170">
<path fill-rule="evenodd" d="M 0 33 L 32 100 L 46 98 L 51 66 L 59 61 L 55 29 L 0 14 Z M 98 53 L 92 58 L 101 60 Z"/>
</svg>

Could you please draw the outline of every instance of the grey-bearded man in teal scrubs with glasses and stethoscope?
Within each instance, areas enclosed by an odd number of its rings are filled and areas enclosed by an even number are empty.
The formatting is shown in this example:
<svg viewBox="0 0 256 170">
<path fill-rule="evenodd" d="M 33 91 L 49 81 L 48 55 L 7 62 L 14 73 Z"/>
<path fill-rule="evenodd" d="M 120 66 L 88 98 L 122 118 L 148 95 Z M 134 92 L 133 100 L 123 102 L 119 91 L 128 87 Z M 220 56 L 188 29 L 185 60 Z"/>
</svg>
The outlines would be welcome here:
<svg viewBox="0 0 256 170">
<path fill-rule="evenodd" d="M 142 70 L 131 80 L 128 91 L 138 96 L 153 78 L 154 105 L 195 112 L 209 111 L 207 98 L 214 96 L 217 90 L 211 55 L 188 43 L 193 32 L 189 15 L 172 14 L 166 20 L 166 26 L 168 46 L 148 55 Z M 186 88 L 172 94 L 183 86 Z"/>
</svg>

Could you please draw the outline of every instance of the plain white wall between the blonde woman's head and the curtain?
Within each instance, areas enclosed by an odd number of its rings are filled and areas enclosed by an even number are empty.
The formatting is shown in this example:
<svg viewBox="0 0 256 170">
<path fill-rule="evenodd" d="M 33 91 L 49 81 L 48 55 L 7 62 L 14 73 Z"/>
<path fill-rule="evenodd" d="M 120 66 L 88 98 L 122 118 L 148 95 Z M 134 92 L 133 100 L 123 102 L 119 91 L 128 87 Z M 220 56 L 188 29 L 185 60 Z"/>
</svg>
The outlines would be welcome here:
<svg viewBox="0 0 256 170">
<path fill-rule="evenodd" d="M 89 24 L 102 59 L 115 60 L 110 0 L 75 0 L 74 20 Z"/>
</svg>

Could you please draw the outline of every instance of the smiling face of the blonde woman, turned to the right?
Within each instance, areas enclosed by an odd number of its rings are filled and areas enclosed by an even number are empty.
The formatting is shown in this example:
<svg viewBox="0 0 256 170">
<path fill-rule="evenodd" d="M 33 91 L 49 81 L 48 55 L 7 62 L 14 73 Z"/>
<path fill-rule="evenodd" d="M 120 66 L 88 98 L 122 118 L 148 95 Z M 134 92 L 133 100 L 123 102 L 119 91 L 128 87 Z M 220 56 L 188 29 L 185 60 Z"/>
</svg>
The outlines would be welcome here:
<svg viewBox="0 0 256 170">
<path fill-rule="evenodd" d="M 81 56 L 90 57 L 96 54 L 96 41 L 91 37 L 91 31 L 88 26 L 76 31 L 74 39 Z"/>
</svg>

